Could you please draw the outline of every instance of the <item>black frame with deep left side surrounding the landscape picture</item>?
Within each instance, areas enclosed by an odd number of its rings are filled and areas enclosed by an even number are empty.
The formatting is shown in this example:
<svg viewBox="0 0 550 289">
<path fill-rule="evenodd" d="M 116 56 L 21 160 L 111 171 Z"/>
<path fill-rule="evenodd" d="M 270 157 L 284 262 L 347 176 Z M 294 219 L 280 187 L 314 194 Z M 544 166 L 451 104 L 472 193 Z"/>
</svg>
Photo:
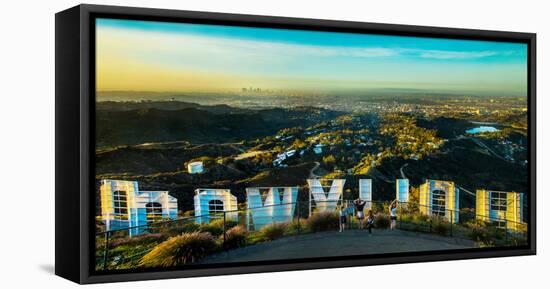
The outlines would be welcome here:
<svg viewBox="0 0 550 289">
<path fill-rule="evenodd" d="M 528 246 L 395 253 L 314 261 L 266 261 L 162 271 L 97 274 L 93 270 L 96 17 L 208 23 L 520 42 L 528 45 Z M 536 34 L 319 19 L 79 5 L 55 16 L 56 194 L 55 273 L 77 283 L 100 283 L 275 272 L 536 254 Z"/>
</svg>

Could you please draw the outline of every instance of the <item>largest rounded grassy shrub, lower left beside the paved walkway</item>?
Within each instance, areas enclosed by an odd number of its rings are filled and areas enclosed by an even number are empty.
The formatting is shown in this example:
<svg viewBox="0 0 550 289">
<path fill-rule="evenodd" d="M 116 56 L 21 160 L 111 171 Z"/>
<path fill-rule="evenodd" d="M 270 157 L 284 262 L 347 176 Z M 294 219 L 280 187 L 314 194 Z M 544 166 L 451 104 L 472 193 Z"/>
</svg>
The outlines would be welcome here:
<svg viewBox="0 0 550 289">
<path fill-rule="evenodd" d="M 200 261 L 219 249 L 210 233 L 184 233 L 172 237 L 143 256 L 143 267 L 173 267 Z"/>
</svg>

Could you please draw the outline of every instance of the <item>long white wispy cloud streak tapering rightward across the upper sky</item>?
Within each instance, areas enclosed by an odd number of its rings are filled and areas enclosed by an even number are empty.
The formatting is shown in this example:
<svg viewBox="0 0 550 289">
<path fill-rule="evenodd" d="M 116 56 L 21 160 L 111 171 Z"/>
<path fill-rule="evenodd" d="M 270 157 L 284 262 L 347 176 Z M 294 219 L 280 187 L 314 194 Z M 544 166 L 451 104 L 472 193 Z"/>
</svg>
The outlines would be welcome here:
<svg viewBox="0 0 550 289">
<path fill-rule="evenodd" d="M 380 46 L 338 46 L 338 45 L 309 45 L 284 43 L 276 41 L 262 41 L 249 39 L 235 39 L 226 37 L 209 37 L 197 35 L 174 35 L 169 33 L 121 31 L 104 28 L 105 33 L 112 38 L 132 39 L 139 42 L 134 46 L 136 50 L 142 50 L 153 54 L 162 53 L 164 56 L 192 56 L 206 58 L 225 55 L 230 58 L 263 58 L 265 60 L 274 57 L 284 59 L 295 57 L 350 57 L 350 58 L 389 58 L 407 57 L 418 59 L 440 60 L 466 60 L 481 59 L 491 56 L 507 56 L 513 51 L 455 51 L 455 50 L 431 50 L 412 49 L 405 47 L 380 47 Z M 162 43 L 163 45 L 158 45 Z M 124 47 L 127 49 L 128 47 Z"/>
</svg>

